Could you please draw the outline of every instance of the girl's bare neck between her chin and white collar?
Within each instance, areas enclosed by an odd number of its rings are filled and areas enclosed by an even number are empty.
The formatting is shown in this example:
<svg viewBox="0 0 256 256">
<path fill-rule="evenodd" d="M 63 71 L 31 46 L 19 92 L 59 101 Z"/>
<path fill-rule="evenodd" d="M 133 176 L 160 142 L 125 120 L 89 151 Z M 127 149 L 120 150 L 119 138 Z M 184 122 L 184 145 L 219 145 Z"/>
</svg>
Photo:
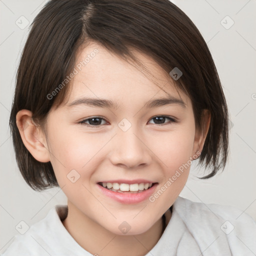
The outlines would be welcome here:
<svg viewBox="0 0 256 256">
<path fill-rule="evenodd" d="M 145 255 L 160 239 L 171 212 L 165 212 L 165 223 L 158 219 L 146 232 L 138 235 L 117 235 L 88 218 L 68 201 L 68 214 L 63 225 L 74 240 L 92 255 Z"/>
</svg>

